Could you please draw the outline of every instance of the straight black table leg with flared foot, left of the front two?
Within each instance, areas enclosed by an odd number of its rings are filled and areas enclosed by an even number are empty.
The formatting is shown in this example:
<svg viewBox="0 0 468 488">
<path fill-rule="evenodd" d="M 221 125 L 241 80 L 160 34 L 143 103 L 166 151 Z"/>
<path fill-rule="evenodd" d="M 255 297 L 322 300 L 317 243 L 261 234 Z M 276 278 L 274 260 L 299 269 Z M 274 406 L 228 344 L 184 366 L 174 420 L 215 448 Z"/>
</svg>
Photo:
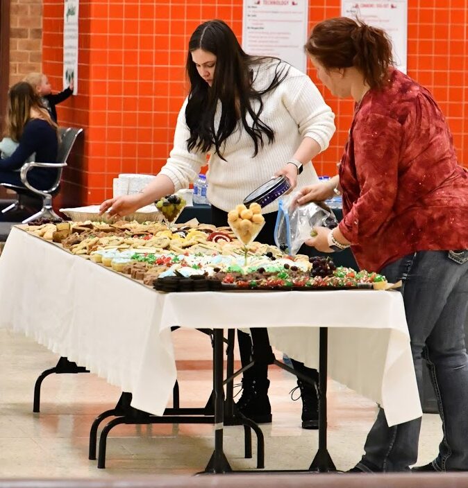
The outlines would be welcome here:
<svg viewBox="0 0 468 488">
<path fill-rule="evenodd" d="M 223 451 L 224 387 L 223 387 L 223 329 L 213 331 L 213 386 L 215 391 L 215 451 L 208 462 L 205 473 L 229 473 L 231 466 Z"/>
</svg>

